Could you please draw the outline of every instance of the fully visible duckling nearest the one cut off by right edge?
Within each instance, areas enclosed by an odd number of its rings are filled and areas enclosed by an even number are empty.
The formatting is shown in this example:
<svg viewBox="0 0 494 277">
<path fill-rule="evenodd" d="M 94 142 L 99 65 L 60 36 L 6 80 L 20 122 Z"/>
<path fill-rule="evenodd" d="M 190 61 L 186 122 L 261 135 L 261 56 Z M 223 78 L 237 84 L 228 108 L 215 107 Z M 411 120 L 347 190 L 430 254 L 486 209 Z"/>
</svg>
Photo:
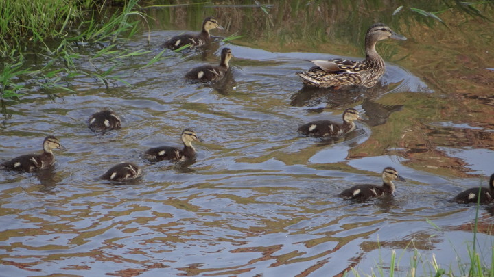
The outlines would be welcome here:
<svg viewBox="0 0 494 277">
<path fill-rule="evenodd" d="M 356 200 L 367 200 L 369 198 L 375 198 L 380 196 L 390 196 L 395 192 L 395 184 L 392 183 L 393 180 L 405 181 L 403 177 L 399 176 L 397 170 L 388 166 L 384 168 L 383 174 L 383 185 L 355 185 L 349 189 L 345 189 L 338 196 L 344 199 L 356 199 Z"/>
</svg>

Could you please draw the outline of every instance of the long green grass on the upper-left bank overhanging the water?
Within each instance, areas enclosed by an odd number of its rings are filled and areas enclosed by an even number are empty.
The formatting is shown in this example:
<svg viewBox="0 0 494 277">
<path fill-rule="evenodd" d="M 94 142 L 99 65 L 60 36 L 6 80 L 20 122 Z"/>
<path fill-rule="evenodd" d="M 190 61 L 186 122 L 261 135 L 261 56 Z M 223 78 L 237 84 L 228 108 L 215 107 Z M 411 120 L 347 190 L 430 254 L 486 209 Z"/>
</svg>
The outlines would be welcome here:
<svg viewBox="0 0 494 277">
<path fill-rule="evenodd" d="M 148 52 L 128 51 L 117 44 L 132 37 L 141 25 L 133 16 L 143 15 L 137 12 L 137 0 L 106 13 L 97 8 L 93 0 L 3 1 L 0 4 L 0 16 L 5 19 L 0 26 L 1 100 L 19 99 L 27 86 L 70 90 L 67 78 L 78 76 L 93 77 L 106 86 L 109 81 L 126 83 L 113 75 L 119 66 L 115 60 Z M 90 63 L 92 68 L 77 66 L 80 43 L 103 45 L 89 59 L 105 59 Z M 40 62 L 27 66 L 26 55 L 35 55 Z"/>
</svg>

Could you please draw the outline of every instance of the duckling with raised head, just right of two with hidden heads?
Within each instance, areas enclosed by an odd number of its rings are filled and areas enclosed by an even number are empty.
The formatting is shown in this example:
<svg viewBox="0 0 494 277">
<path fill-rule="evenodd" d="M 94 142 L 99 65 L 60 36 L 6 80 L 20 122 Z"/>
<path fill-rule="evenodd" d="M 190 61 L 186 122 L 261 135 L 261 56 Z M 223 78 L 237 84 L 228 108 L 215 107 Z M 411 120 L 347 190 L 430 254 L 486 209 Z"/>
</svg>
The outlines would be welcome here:
<svg viewBox="0 0 494 277">
<path fill-rule="evenodd" d="M 200 142 L 200 139 L 198 138 L 196 133 L 192 131 L 192 129 L 185 129 L 182 132 L 182 142 L 184 144 L 182 150 L 172 146 L 150 148 L 145 151 L 144 157 L 150 161 L 182 161 L 185 159 L 193 159 L 194 157 L 196 157 L 196 149 L 192 146 L 192 142 L 194 140 Z"/>
</svg>

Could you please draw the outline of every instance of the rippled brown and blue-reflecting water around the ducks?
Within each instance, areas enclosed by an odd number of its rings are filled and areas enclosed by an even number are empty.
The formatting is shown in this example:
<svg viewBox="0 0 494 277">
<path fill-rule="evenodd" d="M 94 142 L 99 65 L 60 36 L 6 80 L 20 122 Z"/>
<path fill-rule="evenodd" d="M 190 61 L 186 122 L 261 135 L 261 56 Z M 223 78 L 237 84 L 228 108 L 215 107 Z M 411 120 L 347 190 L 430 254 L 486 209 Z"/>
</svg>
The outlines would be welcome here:
<svg viewBox="0 0 494 277">
<path fill-rule="evenodd" d="M 74 94 L 32 87 L 8 103 L 1 160 L 39 151 L 45 135 L 67 150 L 56 151 L 50 170 L 1 172 L 0 276 L 338 276 L 350 267 L 378 272 L 381 263 L 386 276 L 392 250 L 399 276 L 415 250 L 419 276 L 434 272 L 433 255 L 462 274 L 475 206 L 447 200 L 494 173 L 494 24 L 451 9 L 438 14 L 445 27 L 410 10 L 392 16 L 399 3 L 349 2 L 274 1 L 269 15 L 255 5 L 148 8 L 150 44 L 143 31 L 125 47 L 152 53 L 116 72 L 130 86 L 79 77 L 67 83 Z M 141 68 L 205 16 L 226 28 L 215 36 L 246 37 Z M 408 40 L 379 42 L 386 74 L 375 88 L 303 88 L 295 72 L 307 60 L 362 58 L 377 21 Z M 97 49 L 79 47 L 77 66 L 103 62 L 86 57 Z M 234 55 L 224 81 L 183 79 L 193 66 L 217 63 L 222 47 Z M 32 62 L 49 62 L 41 60 Z M 98 135 L 86 120 L 104 107 L 123 118 L 122 129 Z M 346 137 L 296 133 L 309 120 L 339 121 L 348 107 L 366 121 Z M 142 159 L 150 147 L 180 146 L 185 127 L 203 140 L 195 163 Z M 97 178 L 121 161 L 137 163 L 143 177 L 124 185 Z M 386 166 L 406 179 L 393 198 L 335 196 L 380 183 Z M 476 250 L 486 265 L 491 208 L 479 211 Z"/>
</svg>

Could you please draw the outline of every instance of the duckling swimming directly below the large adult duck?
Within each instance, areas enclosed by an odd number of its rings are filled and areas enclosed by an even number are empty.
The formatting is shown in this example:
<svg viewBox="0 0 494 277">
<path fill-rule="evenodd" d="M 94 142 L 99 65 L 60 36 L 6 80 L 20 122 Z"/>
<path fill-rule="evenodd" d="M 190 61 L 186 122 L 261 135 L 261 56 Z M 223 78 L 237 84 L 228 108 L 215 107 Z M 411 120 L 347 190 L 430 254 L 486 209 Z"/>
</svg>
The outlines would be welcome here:
<svg viewBox="0 0 494 277">
<path fill-rule="evenodd" d="M 329 120 L 318 120 L 298 127 L 298 132 L 309 137 L 338 137 L 355 130 L 355 120 L 362 120 L 356 109 L 346 109 L 343 113 L 343 123 L 338 124 Z"/>
</svg>

